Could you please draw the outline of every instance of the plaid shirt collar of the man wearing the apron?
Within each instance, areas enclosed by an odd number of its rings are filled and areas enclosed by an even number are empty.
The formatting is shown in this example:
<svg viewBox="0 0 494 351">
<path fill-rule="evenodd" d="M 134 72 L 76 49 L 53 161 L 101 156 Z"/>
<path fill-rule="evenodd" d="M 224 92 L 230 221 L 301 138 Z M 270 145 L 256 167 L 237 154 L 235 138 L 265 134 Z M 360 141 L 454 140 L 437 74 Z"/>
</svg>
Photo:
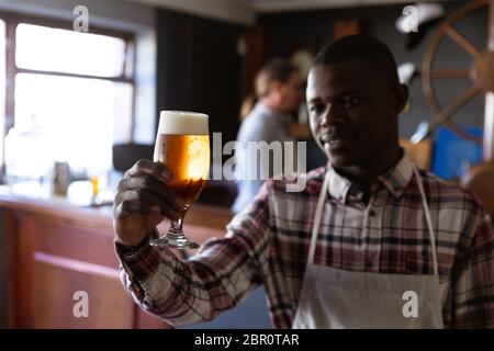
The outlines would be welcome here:
<svg viewBox="0 0 494 351">
<path fill-rule="evenodd" d="M 406 152 L 403 152 L 403 157 L 400 161 L 397 161 L 397 163 L 388 171 L 379 176 L 375 180 L 377 184 L 371 184 L 371 191 L 377 189 L 375 185 L 380 189 L 384 186 L 395 197 L 400 197 L 412 179 L 414 172 L 413 167 L 412 160 L 408 158 Z M 338 174 L 338 172 L 336 172 L 329 163 L 327 171 L 329 177 L 329 195 L 341 202 L 346 202 L 348 191 L 353 183 L 345 177 Z"/>
</svg>

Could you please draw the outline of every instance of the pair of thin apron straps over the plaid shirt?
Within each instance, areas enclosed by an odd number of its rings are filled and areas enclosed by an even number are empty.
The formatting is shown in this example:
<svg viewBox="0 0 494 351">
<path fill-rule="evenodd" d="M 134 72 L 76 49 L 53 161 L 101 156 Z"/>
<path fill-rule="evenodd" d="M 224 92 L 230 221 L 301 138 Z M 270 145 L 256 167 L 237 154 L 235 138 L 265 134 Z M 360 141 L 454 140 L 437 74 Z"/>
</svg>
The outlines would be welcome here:
<svg viewBox="0 0 494 351">
<path fill-rule="evenodd" d="M 436 238 L 434 235 L 434 226 L 433 226 L 433 219 L 430 217 L 430 211 L 429 205 L 427 204 L 427 197 L 424 191 L 424 185 L 422 182 L 420 174 L 417 171 L 417 168 L 413 166 L 415 179 L 417 182 L 418 191 L 420 192 L 422 197 L 422 205 L 424 207 L 424 213 L 427 222 L 427 229 L 429 231 L 429 241 L 430 247 L 433 251 L 433 269 L 434 269 L 434 275 L 439 275 L 439 269 L 438 269 L 438 261 L 437 261 L 437 252 L 436 252 Z M 323 210 L 324 210 L 324 203 L 326 200 L 327 189 L 329 186 L 329 172 L 326 171 L 326 174 L 324 177 L 323 186 L 321 188 L 319 197 L 317 199 L 317 206 L 316 212 L 314 215 L 314 225 L 312 227 L 312 236 L 311 236 L 311 245 L 308 247 L 308 254 L 307 254 L 307 264 L 314 263 L 314 253 L 317 242 L 317 234 L 319 233 L 321 227 L 321 219 L 323 217 Z"/>
</svg>

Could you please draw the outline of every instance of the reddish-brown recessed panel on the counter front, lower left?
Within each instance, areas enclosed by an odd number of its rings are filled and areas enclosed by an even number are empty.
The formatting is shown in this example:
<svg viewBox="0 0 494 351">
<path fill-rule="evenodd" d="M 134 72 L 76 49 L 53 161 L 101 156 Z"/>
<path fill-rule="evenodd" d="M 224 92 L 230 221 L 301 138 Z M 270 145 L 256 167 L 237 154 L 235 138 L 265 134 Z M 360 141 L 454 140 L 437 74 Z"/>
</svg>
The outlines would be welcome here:
<svg viewBox="0 0 494 351">
<path fill-rule="evenodd" d="M 35 252 L 33 328 L 132 328 L 134 304 L 119 271 L 99 264 Z M 76 317 L 76 292 L 88 294 L 88 317 Z"/>
</svg>

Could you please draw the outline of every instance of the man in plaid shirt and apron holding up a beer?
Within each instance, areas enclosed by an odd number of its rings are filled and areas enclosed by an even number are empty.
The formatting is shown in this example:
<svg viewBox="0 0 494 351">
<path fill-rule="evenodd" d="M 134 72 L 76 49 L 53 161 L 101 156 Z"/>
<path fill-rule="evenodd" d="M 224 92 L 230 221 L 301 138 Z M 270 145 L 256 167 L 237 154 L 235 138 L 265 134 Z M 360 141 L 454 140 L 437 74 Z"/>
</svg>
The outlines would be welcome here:
<svg viewBox="0 0 494 351">
<path fill-rule="evenodd" d="M 300 193 L 266 182 L 226 236 L 188 261 L 147 245 L 173 214 L 170 171 L 139 161 L 126 173 L 116 250 L 141 306 L 186 325 L 265 284 L 277 328 L 494 328 L 491 218 L 400 148 L 407 88 L 388 47 L 347 36 L 323 48 L 306 98 L 328 165 L 301 176 Z"/>
</svg>

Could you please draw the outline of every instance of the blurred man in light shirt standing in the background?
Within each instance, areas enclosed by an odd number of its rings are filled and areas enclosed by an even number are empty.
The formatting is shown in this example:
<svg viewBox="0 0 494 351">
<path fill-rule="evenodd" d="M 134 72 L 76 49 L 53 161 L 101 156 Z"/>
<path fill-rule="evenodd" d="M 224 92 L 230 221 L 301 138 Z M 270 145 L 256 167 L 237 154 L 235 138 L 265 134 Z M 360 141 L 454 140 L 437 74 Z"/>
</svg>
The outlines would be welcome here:
<svg viewBox="0 0 494 351">
<path fill-rule="evenodd" d="M 248 151 L 248 143 L 294 141 L 290 136 L 291 113 L 299 109 L 303 100 L 301 72 L 284 59 L 272 59 L 262 67 L 256 76 L 255 86 L 259 100 L 242 123 L 237 135 L 235 173 L 238 195 L 233 204 L 235 213 L 244 210 L 257 195 L 266 180 L 261 179 L 261 174 L 274 176 L 272 166 L 259 159 L 257 149 Z M 252 170 L 257 170 L 257 174 L 249 174 Z"/>
</svg>

